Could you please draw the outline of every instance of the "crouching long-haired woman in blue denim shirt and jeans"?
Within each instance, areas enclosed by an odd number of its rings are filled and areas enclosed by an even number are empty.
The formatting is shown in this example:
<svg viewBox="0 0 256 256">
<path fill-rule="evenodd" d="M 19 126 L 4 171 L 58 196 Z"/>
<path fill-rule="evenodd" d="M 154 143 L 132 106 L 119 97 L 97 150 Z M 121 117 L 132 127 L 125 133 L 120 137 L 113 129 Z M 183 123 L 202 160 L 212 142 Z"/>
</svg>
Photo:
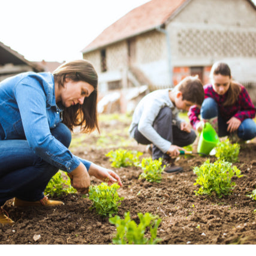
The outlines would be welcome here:
<svg viewBox="0 0 256 256">
<path fill-rule="evenodd" d="M 59 169 L 71 185 L 88 192 L 90 176 L 104 182 L 121 179 L 112 170 L 73 155 L 71 132 L 98 128 L 98 76 L 85 60 L 61 65 L 53 74 L 22 73 L 0 83 L 0 223 L 13 224 L 2 206 L 56 206 L 44 189 Z"/>
</svg>

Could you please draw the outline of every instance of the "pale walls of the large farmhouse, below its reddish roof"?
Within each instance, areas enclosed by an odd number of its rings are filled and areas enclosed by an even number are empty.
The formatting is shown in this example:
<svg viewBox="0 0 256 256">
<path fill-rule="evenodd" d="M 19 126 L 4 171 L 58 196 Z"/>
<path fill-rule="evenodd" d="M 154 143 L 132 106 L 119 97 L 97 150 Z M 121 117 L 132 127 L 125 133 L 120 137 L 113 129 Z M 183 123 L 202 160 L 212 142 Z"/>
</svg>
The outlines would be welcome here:
<svg viewBox="0 0 256 256">
<path fill-rule="evenodd" d="M 189 67 L 209 68 L 220 60 L 230 65 L 236 80 L 255 82 L 255 24 L 256 11 L 246 0 L 191 0 L 165 27 L 170 36 L 170 59 L 165 34 L 154 30 L 135 37 L 132 65 L 158 88 L 170 86 L 170 64 L 172 68 L 186 67 L 183 75 L 188 75 Z M 105 47 L 107 71 L 103 73 L 100 50 L 86 53 L 84 58 L 94 64 L 104 92 L 108 82 L 125 82 L 128 42 L 125 39 Z"/>
</svg>

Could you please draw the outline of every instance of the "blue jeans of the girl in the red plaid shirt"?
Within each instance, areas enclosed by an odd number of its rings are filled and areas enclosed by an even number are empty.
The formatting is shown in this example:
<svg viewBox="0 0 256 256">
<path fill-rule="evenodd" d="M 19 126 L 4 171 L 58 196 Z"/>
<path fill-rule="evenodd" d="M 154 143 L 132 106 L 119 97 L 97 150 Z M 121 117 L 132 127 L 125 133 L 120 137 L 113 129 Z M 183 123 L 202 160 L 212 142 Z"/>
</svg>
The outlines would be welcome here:
<svg viewBox="0 0 256 256">
<path fill-rule="evenodd" d="M 212 98 L 206 98 L 201 106 L 201 118 L 211 119 L 218 116 L 218 135 L 224 137 L 229 135 L 227 121 L 219 115 L 218 104 Z M 251 118 L 247 118 L 237 129 L 237 135 L 242 140 L 251 140 L 256 137 L 256 124 Z"/>
</svg>

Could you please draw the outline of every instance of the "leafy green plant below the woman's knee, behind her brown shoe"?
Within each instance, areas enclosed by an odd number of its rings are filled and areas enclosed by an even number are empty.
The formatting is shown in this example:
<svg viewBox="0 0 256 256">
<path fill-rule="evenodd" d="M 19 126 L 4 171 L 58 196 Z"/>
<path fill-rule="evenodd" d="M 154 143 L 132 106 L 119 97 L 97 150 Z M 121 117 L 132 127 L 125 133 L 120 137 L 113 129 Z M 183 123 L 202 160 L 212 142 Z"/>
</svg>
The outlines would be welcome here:
<svg viewBox="0 0 256 256">
<path fill-rule="evenodd" d="M 59 197 L 66 194 L 75 194 L 76 189 L 71 186 L 70 179 L 65 180 L 62 177 L 63 171 L 58 171 L 55 176 L 50 179 L 44 192 L 51 197 Z"/>
</svg>

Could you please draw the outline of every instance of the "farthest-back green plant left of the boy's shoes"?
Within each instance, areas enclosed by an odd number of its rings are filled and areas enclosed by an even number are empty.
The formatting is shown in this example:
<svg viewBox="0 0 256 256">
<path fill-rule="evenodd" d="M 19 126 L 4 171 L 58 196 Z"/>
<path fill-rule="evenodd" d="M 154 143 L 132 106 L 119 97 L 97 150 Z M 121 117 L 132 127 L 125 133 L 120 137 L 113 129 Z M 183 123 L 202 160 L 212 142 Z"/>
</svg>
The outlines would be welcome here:
<svg viewBox="0 0 256 256">
<path fill-rule="evenodd" d="M 139 157 L 143 155 L 142 152 L 126 150 L 126 149 L 117 149 L 115 151 L 111 150 L 106 156 L 110 157 L 112 161 L 112 167 L 127 167 L 127 166 L 136 166 L 140 159 Z"/>
</svg>

